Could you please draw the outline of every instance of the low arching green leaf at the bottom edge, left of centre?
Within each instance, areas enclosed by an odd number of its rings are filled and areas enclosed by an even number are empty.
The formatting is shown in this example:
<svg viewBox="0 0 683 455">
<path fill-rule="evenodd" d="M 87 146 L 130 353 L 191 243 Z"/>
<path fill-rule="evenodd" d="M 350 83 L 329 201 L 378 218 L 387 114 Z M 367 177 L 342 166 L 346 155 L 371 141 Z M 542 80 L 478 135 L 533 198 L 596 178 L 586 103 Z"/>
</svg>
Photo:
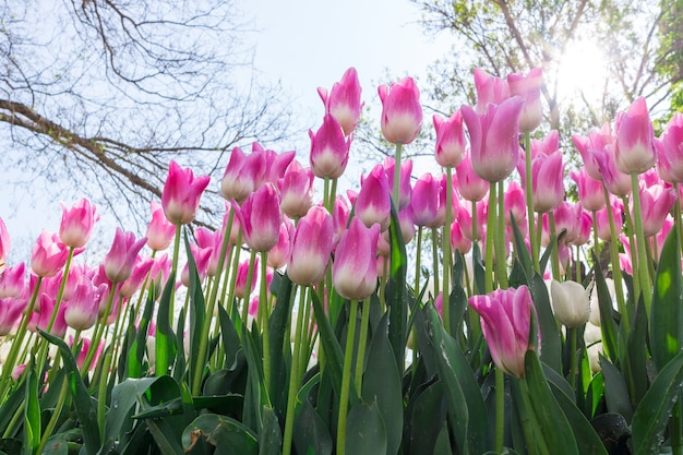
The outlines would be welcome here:
<svg viewBox="0 0 683 455">
<path fill-rule="evenodd" d="M 185 453 L 190 452 L 200 439 L 216 446 L 216 454 L 259 454 L 256 435 L 244 424 L 226 416 L 205 414 L 194 419 L 182 433 Z"/>
</svg>

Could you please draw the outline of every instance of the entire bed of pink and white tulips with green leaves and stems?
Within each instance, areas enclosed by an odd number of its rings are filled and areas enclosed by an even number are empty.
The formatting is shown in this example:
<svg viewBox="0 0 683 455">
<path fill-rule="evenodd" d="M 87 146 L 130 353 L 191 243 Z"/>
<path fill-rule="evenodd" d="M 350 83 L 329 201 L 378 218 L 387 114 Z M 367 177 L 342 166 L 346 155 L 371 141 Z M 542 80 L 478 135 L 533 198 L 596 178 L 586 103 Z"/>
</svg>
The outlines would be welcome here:
<svg viewBox="0 0 683 455">
<path fill-rule="evenodd" d="M 475 81 L 433 118 L 439 175 L 402 159 L 408 77 L 379 89 L 394 158 L 338 194 L 350 69 L 310 167 L 232 151 L 221 229 L 190 229 L 209 179 L 173 161 L 98 267 L 87 200 L 28 265 L 0 220 L 0 453 L 683 454 L 683 115 L 574 135 L 570 202 L 540 71 Z"/>
</svg>

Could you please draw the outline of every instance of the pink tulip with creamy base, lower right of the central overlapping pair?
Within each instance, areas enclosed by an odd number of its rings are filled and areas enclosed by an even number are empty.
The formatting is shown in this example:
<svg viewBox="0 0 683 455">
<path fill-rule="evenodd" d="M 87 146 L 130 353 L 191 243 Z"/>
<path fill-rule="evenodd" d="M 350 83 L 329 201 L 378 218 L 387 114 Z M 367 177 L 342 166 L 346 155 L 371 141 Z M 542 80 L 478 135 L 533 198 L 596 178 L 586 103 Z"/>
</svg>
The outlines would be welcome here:
<svg viewBox="0 0 683 455">
<path fill-rule="evenodd" d="M 332 264 L 332 280 L 339 296 L 363 300 L 378 284 L 376 251 L 380 226 L 367 228 L 358 218 L 339 239 Z"/>
</svg>

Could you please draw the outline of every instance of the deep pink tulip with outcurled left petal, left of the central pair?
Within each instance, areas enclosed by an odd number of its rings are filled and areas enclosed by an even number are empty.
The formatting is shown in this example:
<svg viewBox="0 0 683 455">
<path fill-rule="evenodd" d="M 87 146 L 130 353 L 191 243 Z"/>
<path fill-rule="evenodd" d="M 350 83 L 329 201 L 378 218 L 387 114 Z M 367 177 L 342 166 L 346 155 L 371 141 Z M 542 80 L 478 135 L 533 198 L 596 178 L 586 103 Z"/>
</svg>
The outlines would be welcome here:
<svg viewBox="0 0 683 455">
<path fill-rule="evenodd" d="M 241 207 L 235 206 L 244 241 L 254 251 L 266 252 L 279 239 L 283 215 L 279 197 L 273 183 L 265 183 L 247 197 Z"/>
</svg>

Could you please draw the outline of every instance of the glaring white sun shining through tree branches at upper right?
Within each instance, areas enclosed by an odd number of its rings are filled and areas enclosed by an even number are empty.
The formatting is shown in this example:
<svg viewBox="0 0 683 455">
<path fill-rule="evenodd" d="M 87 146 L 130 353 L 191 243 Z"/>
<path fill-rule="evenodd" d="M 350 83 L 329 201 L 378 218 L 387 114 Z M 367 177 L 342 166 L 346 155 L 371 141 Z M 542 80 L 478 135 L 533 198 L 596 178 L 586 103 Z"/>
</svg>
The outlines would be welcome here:
<svg viewBox="0 0 683 455">
<path fill-rule="evenodd" d="M 560 57 L 558 97 L 598 103 L 604 91 L 607 59 L 600 46 L 586 38 L 571 41 Z"/>
</svg>

